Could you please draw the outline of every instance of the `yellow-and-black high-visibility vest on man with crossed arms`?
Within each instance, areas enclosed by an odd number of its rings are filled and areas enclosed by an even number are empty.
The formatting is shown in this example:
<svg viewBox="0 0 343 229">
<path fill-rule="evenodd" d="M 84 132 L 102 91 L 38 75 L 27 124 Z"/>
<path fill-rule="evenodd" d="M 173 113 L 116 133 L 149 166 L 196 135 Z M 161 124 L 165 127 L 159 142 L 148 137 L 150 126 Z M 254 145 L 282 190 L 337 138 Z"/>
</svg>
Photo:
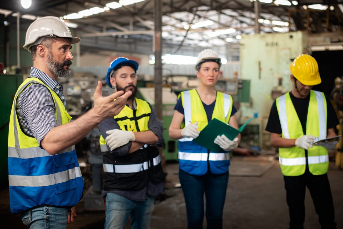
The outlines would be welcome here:
<svg viewBox="0 0 343 229">
<path fill-rule="evenodd" d="M 125 106 L 116 116 L 115 121 L 121 130 L 144 132 L 149 130 L 151 108 L 149 103 L 135 98 L 137 110 Z M 105 191 L 142 190 L 149 181 L 157 184 L 164 180 L 161 157 L 157 147 L 144 145 L 139 150 L 125 156 L 116 156 L 108 152 L 105 139 L 100 136 L 100 149 L 103 154 Z"/>
</svg>

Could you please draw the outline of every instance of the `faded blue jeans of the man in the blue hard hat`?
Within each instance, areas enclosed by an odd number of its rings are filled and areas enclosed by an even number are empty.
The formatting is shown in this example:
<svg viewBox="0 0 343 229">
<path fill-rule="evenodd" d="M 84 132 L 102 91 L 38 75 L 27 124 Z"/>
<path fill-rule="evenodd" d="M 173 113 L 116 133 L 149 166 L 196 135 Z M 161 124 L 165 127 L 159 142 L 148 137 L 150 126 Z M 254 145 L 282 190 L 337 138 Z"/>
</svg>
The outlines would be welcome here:
<svg viewBox="0 0 343 229">
<path fill-rule="evenodd" d="M 149 196 L 146 201 L 132 201 L 115 193 L 107 193 L 105 229 L 124 228 L 129 216 L 132 229 L 149 229 L 154 199 Z"/>
</svg>

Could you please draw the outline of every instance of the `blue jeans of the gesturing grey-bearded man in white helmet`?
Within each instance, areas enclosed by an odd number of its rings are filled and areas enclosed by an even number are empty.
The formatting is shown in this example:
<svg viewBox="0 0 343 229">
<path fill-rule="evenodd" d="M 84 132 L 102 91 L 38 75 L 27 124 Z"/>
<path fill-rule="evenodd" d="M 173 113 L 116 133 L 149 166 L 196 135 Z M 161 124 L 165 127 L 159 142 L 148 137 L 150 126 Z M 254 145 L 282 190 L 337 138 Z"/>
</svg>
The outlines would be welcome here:
<svg viewBox="0 0 343 229">
<path fill-rule="evenodd" d="M 66 229 L 71 207 L 39 206 L 21 214 L 23 223 L 33 229 Z"/>
</svg>

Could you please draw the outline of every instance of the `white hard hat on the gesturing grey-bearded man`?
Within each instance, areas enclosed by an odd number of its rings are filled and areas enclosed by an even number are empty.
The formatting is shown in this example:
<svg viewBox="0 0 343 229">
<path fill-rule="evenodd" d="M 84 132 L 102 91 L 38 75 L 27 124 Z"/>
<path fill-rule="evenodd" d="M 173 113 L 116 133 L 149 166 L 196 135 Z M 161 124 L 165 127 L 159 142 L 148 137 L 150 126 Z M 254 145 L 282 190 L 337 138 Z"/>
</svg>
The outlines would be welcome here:
<svg viewBox="0 0 343 229">
<path fill-rule="evenodd" d="M 30 47 L 40 44 L 45 37 L 70 38 L 71 44 L 79 43 L 79 37 L 73 37 L 64 22 L 54 16 L 46 16 L 36 21 L 28 27 L 25 37 L 24 48 L 30 51 Z"/>
</svg>

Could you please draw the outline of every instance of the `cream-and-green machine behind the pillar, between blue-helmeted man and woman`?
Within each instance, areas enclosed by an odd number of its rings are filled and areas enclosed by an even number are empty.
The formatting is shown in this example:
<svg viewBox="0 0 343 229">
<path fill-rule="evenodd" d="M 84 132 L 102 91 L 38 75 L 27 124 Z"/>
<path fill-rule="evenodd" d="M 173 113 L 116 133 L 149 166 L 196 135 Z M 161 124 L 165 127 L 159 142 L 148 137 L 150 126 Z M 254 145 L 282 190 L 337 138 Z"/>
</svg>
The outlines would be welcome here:
<svg viewBox="0 0 343 229">
<path fill-rule="evenodd" d="M 137 98 L 149 102 L 152 106 L 155 104 L 155 89 L 138 87 Z M 162 88 L 163 103 L 163 153 L 166 161 L 178 160 L 177 140 L 169 137 L 168 129 L 173 119 L 174 106 L 176 104 L 176 95 L 170 88 Z"/>
</svg>

